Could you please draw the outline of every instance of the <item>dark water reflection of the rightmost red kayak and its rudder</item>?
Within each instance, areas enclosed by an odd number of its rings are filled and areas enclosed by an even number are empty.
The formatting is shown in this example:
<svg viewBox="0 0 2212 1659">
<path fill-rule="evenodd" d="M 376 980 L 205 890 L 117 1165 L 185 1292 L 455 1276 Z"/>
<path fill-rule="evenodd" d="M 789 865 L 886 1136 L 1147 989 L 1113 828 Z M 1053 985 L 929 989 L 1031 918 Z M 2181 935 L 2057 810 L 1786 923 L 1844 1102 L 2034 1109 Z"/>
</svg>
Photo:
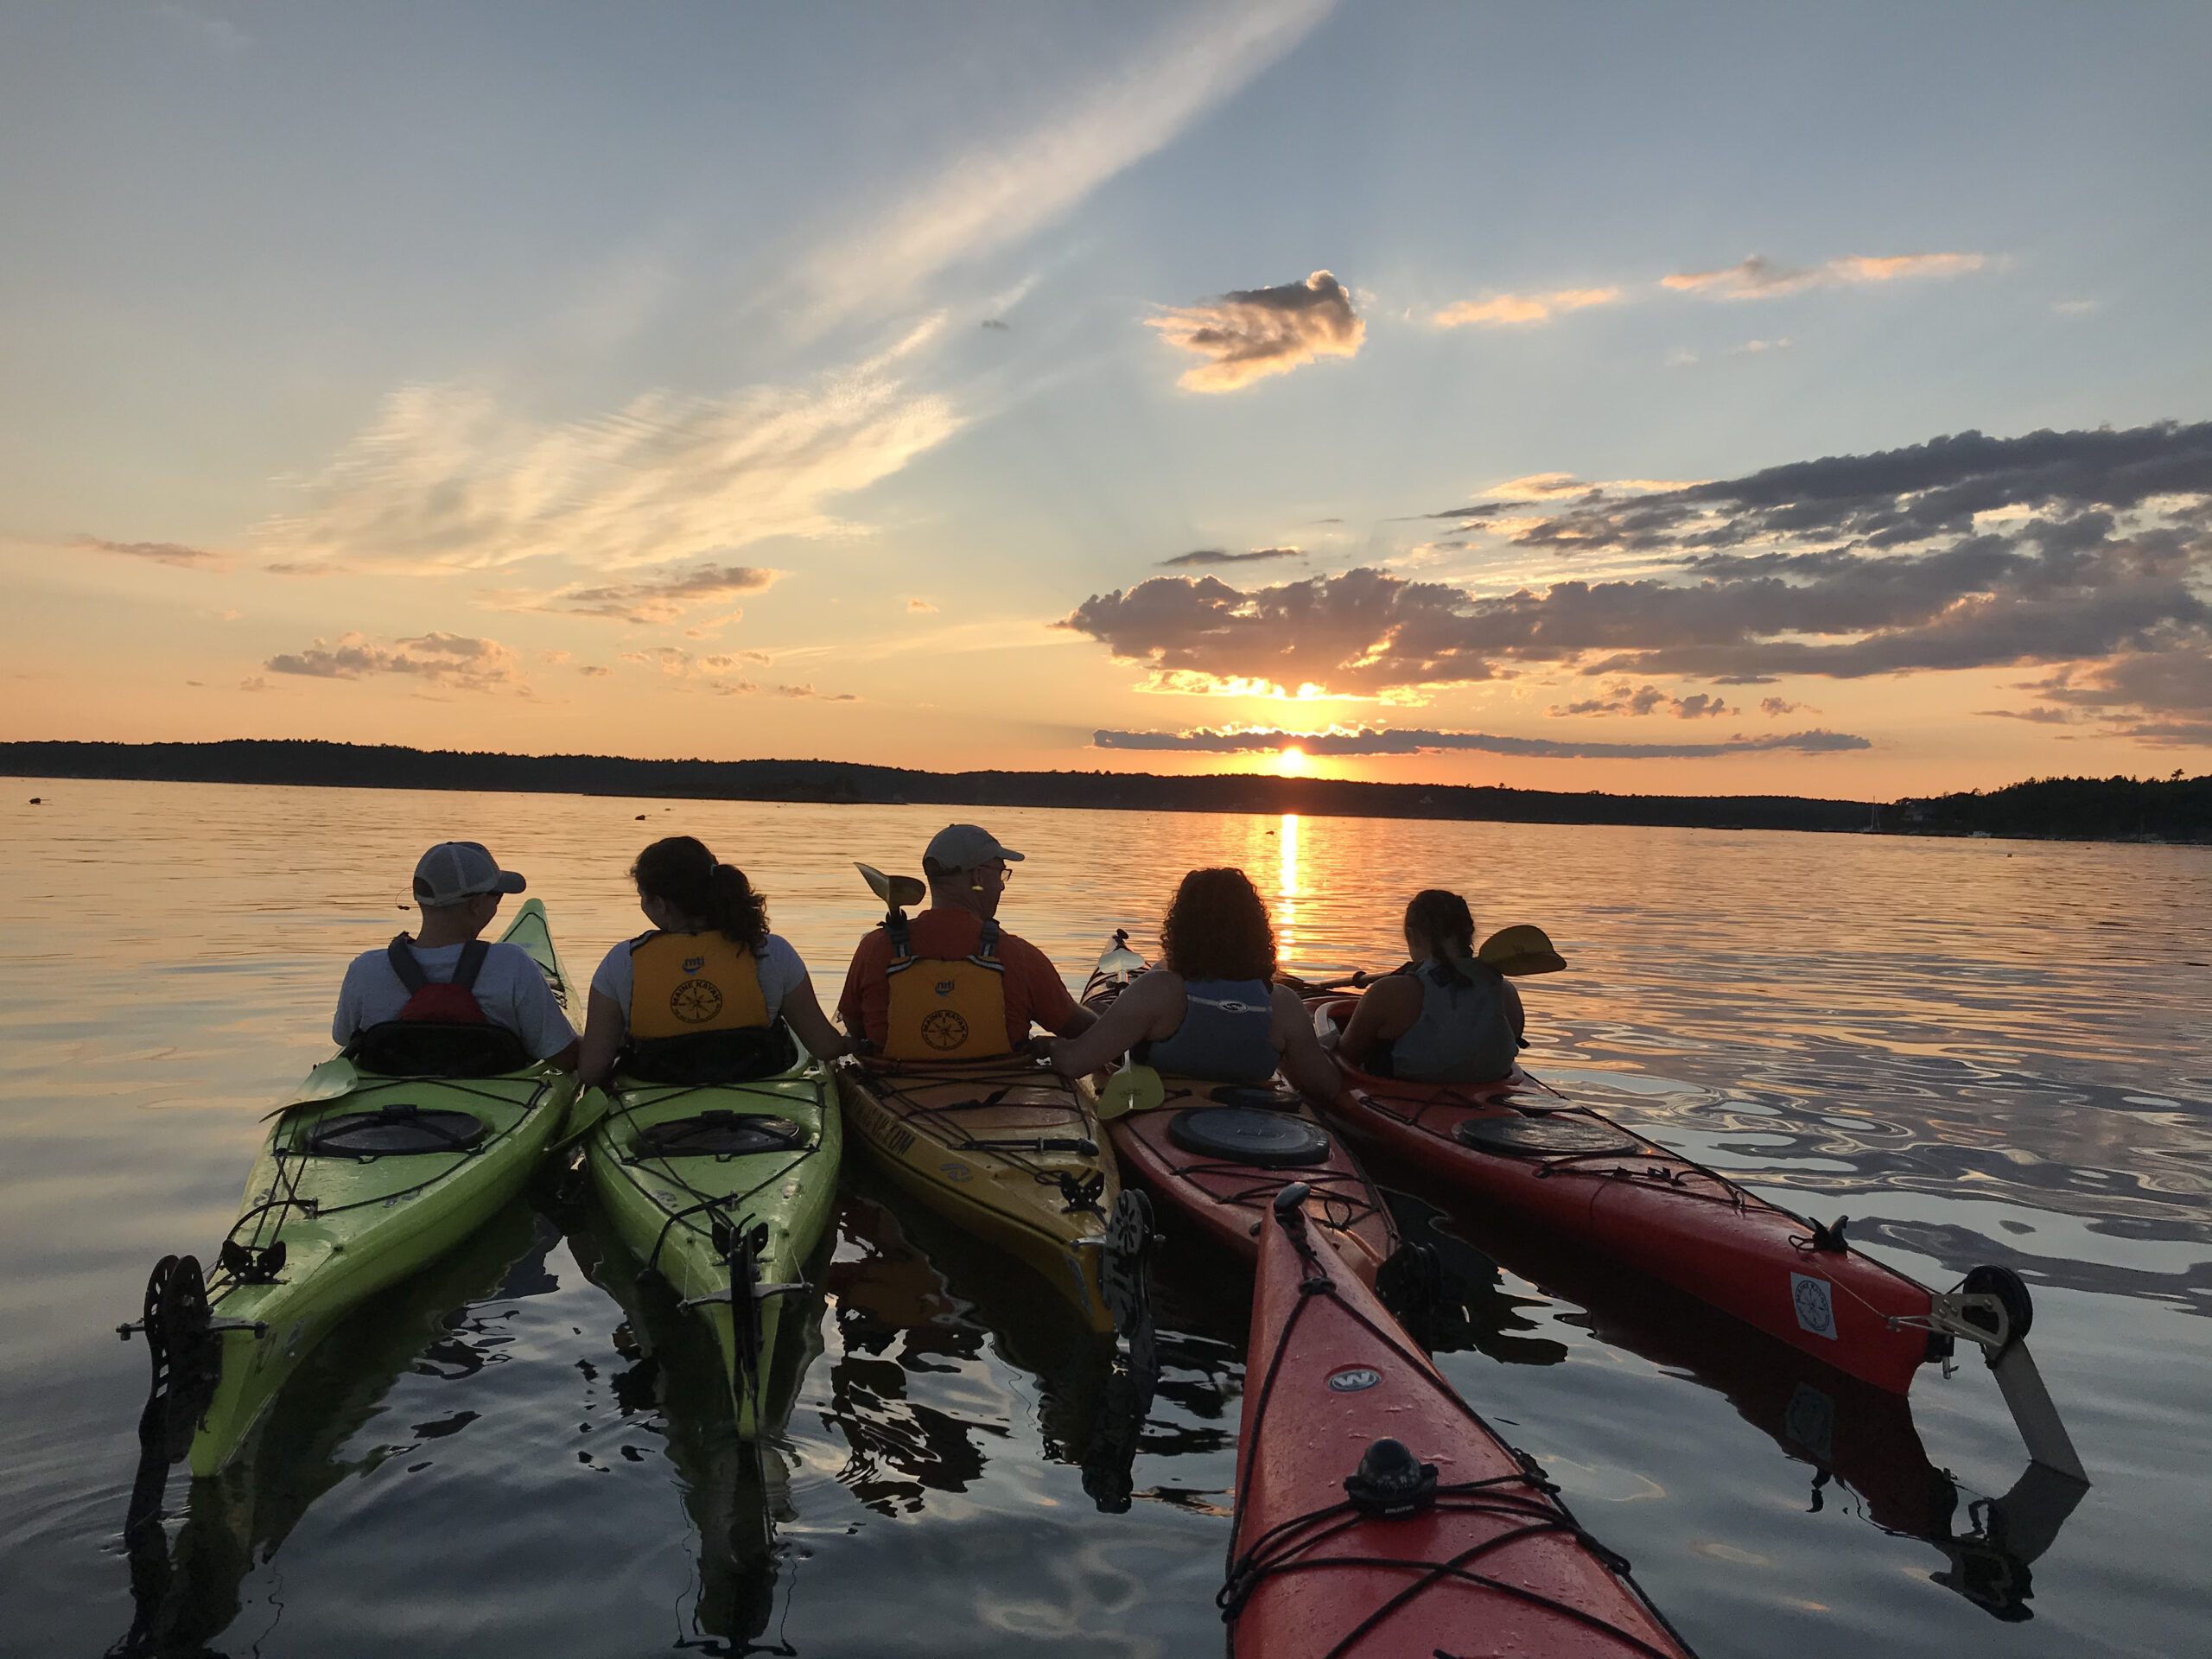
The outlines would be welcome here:
<svg viewBox="0 0 2212 1659">
<path fill-rule="evenodd" d="M 1938 1584 L 1997 1619 L 2031 1617 L 2028 1568 L 2081 1502 L 2088 1491 L 2081 1482 L 2031 1462 L 2002 1498 L 1971 1498 L 1929 1460 L 1905 1396 L 1823 1365 L 1606 1256 L 1555 1241 L 1537 1248 L 1495 1217 L 1436 1210 L 1407 1194 L 1396 1201 L 1407 1237 L 1442 1259 L 1447 1305 L 1462 1285 L 1491 1285 L 1502 1263 L 1582 1307 L 1575 1323 L 1597 1340 L 1721 1394 L 1745 1422 L 1812 1469 L 1809 1509 L 1823 1509 L 1827 1489 L 1838 1484 L 1860 1498 L 1874 1526 L 1942 1551 L 1947 1568 L 1931 1575 Z M 1495 1358 L 1533 1358 L 1533 1345 L 1517 1356 L 1482 1347 Z M 1566 1358 L 1564 1347 L 1548 1347 Z"/>
</svg>

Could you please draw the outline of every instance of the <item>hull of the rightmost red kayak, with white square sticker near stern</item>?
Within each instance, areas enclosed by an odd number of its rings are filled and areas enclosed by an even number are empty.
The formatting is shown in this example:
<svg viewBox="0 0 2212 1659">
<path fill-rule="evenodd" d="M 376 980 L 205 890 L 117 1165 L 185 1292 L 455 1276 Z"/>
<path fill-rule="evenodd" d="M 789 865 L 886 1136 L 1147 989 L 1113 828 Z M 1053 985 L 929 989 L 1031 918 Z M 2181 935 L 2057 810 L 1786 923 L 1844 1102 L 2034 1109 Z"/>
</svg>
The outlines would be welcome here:
<svg viewBox="0 0 2212 1659">
<path fill-rule="evenodd" d="M 1323 1018 L 1332 1009 L 1323 1004 Z M 1836 1241 L 1723 1175 L 1646 1141 L 1601 1113 L 1502 1084 L 1413 1084 L 1338 1068 L 1336 1128 L 1427 1181 L 1473 1192 L 1590 1250 L 1734 1314 L 1891 1394 L 1929 1358 L 1929 1290 Z M 1475 1119 L 1535 1108 L 1557 1124 L 1617 1130 L 1606 1155 L 1524 1157 L 1460 1139 Z M 1916 1323 L 1905 1323 L 1916 1321 Z"/>
</svg>

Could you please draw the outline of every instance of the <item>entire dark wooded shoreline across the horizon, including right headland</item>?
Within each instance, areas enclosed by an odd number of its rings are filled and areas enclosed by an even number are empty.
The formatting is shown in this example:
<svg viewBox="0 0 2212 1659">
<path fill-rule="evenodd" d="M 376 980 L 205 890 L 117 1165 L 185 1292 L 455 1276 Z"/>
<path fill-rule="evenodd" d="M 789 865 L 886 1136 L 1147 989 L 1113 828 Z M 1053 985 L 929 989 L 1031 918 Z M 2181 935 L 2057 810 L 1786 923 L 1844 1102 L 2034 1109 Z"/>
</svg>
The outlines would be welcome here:
<svg viewBox="0 0 2212 1659">
<path fill-rule="evenodd" d="M 279 783 L 354 790 L 511 790 L 832 805 L 1301 812 L 1334 818 L 1621 823 L 1690 830 L 1867 830 L 2046 838 L 2212 841 L 2212 776 L 2037 779 L 1989 794 L 1812 801 L 1794 794 L 1559 794 L 1451 783 L 1259 774 L 909 772 L 852 761 L 626 761 L 239 739 L 230 743 L 0 743 L 0 772 L 40 779 Z"/>
</svg>

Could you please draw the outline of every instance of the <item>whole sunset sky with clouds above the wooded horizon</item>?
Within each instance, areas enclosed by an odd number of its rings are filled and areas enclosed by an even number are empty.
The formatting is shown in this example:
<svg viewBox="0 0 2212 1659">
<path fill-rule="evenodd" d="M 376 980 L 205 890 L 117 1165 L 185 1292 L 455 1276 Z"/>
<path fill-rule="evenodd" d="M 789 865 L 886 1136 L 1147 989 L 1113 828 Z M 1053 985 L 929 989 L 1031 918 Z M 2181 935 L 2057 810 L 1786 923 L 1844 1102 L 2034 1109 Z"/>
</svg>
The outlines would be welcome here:
<svg viewBox="0 0 2212 1659">
<path fill-rule="evenodd" d="M 2212 9 L 0 9 L 4 739 L 2212 750 Z"/>
</svg>

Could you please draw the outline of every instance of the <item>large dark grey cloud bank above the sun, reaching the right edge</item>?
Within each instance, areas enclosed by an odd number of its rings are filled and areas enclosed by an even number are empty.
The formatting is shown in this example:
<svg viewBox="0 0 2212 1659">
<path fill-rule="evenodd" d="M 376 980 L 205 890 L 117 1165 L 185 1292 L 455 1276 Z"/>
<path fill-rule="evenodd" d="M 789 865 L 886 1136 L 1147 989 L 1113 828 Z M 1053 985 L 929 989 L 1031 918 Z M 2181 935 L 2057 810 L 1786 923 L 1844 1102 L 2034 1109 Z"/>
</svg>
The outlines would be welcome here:
<svg viewBox="0 0 2212 1659">
<path fill-rule="evenodd" d="M 1504 509 L 1458 515 L 1486 511 Z M 1984 513 L 2002 518 L 1978 526 Z M 1648 495 L 1593 491 L 1513 540 L 1641 553 L 1661 571 L 1489 597 L 1376 568 L 1250 591 L 1161 575 L 1060 626 L 1161 672 L 1338 695 L 1528 666 L 1717 686 L 2037 668 L 2017 681 L 2042 710 L 2031 719 L 2212 745 L 2212 422 L 1966 431 Z"/>
</svg>

